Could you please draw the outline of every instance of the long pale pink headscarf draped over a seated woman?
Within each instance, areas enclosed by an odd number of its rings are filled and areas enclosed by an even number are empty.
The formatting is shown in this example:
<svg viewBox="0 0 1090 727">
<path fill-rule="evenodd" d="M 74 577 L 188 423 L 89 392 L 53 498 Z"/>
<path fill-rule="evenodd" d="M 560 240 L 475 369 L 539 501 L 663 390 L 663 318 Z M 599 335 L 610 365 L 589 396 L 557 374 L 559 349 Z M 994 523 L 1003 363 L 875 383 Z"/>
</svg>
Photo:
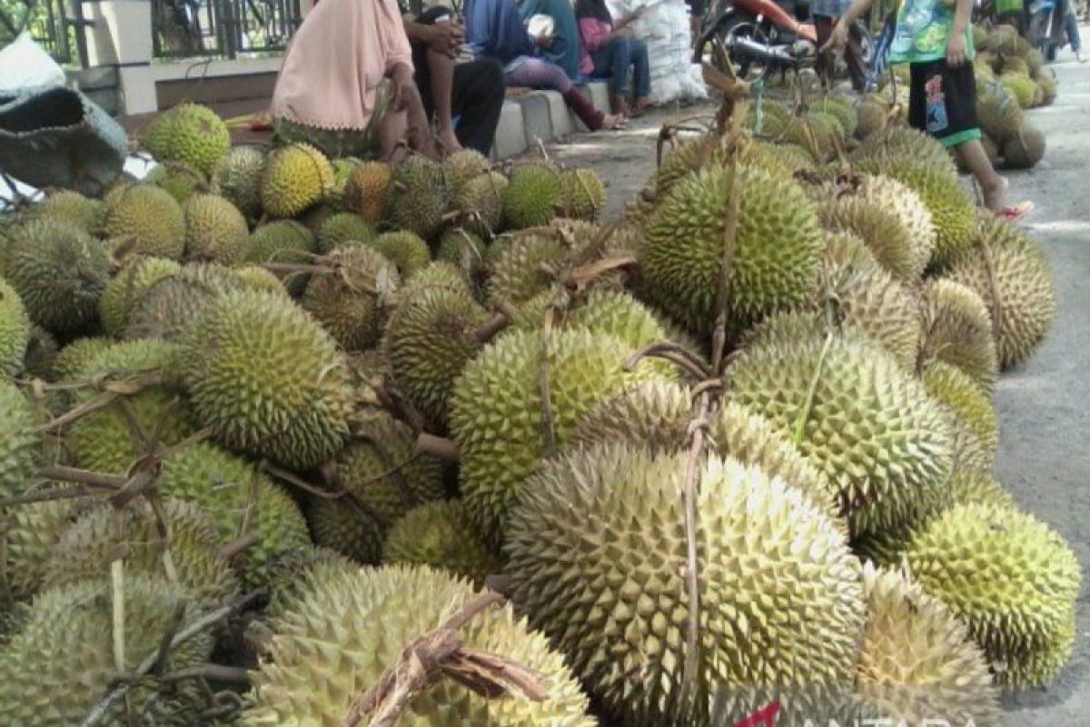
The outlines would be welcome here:
<svg viewBox="0 0 1090 727">
<path fill-rule="evenodd" d="M 412 48 L 396 0 L 322 0 L 291 40 L 272 93 L 272 117 L 363 131 L 375 90 Z"/>
</svg>

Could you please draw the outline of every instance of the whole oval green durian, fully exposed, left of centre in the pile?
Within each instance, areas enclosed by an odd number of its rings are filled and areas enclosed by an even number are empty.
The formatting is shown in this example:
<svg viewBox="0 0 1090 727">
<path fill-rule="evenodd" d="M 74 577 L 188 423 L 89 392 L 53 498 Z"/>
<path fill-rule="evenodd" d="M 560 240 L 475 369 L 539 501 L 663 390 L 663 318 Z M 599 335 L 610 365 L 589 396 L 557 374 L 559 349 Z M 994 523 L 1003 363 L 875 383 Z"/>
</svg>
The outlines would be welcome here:
<svg viewBox="0 0 1090 727">
<path fill-rule="evenodd" d="M 228 447 L 306 469 L 328 461 L 348 435 L 344 360 L 282 296 L 220 295 L 186 331 L 179 358 L 197 420 Z"/>
</svg>

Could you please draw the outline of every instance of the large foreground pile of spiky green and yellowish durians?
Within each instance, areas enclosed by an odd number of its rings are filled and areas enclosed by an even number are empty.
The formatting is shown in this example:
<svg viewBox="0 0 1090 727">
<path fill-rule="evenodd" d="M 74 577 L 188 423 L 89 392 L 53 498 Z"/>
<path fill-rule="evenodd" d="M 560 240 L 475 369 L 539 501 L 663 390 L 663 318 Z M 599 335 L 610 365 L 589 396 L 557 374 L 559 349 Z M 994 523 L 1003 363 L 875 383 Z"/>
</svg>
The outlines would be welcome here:
<svg viewBox="0 0 1090 727">
<path fill-rule="evenodd" d="M 992 474 L 1049 265 L 821 107 L 741 105 L 611 225 L 590 170 L 194 105 L 145 181 L 0 217 L 0 724 L 339 726 L 492 586 L 460 643 L 536 692 L 451 668 L 398 725 L 997 725 L 1075 637 Z"/>
</svg>

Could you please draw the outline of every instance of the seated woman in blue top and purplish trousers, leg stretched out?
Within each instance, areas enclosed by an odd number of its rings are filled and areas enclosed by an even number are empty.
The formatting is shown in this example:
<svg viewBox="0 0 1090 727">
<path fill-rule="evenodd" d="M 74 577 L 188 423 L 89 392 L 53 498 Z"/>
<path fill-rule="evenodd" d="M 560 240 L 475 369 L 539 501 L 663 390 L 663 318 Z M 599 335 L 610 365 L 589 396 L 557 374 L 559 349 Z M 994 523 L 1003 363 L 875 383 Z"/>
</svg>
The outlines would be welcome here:
<svg viewBox="0 0 1090 727">
<path fill-rule="evenodd" d="M 514 0 L 467 0 L 465 38 L 474 56 L 494 58 L 504 64 L 507 85 L 559 92 L 568 107 L 591 131 L 620 125 L 621 117 L 604 114 L 595 109 L 579 93 L 564 69 L 533 58 L 535 44 L 548 46 L 549 38 L 530 37 Z"/>
</svg>

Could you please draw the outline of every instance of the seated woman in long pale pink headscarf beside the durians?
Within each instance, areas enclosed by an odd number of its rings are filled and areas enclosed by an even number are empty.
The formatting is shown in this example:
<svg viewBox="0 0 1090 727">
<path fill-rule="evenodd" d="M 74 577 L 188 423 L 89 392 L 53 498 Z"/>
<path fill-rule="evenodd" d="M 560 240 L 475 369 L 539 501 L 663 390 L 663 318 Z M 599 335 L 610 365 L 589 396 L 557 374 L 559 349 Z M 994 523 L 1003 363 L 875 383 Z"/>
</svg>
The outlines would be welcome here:
<svg viewBox="0 0 1090 727">
<path fill-rule="evenodd" d="M 318 2 L 284 56 L 271 114 L 278 140 L 332 158 L 389 158 L 402 141 L 435 156 L 397 0 Z"/>
</svg>

